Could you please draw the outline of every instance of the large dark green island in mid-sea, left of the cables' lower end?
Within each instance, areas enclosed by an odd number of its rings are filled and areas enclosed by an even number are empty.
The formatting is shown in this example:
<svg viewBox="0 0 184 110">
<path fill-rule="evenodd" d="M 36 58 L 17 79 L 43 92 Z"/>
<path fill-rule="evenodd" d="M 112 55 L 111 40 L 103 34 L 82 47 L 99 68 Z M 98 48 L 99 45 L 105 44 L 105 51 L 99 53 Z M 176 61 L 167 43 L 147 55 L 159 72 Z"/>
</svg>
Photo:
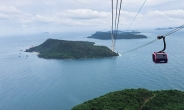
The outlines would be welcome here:
<svg viewBox="0 0 184 110">
<path fill-rule="evenodd" d="M 38 52 L 45 59 L 84 59 L 118 56 L 106 46 L 96 46 L 94 42 L 47 39 L 39 46 L 25 52 Z"/>
</svg>

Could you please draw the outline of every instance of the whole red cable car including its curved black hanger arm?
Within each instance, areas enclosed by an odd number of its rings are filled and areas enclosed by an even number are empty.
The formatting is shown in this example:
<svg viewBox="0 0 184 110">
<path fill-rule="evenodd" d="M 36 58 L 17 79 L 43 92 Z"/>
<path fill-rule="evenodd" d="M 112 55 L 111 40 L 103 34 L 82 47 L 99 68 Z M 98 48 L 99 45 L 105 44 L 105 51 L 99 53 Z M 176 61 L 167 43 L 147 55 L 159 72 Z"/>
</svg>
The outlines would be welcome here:
<svg viewBox="0 0 184 110">
<path fill-rule="evenodd" d="M 168 62 L 168 55 L 164 52 L 164 50 L 166 49 L 165 37 L 164 36 L 157 37 L 157 39 L 162 39 L 162 38 L 164 42 L 164 49 L 159 52 L 154 52 L 152 54 L 154 63 L 167 63 Z"/>
</svg>

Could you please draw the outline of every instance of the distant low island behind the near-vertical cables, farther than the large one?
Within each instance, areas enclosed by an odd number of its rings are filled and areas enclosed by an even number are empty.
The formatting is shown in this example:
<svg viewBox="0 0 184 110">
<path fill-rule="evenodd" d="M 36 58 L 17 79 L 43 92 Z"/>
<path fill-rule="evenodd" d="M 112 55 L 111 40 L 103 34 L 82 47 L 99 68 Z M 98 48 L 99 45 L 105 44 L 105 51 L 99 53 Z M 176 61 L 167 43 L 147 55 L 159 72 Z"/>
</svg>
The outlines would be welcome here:
<svg viewBox="0 0 184 110">
<path fill-rule="evenodd" d="M 116 31 L 115 31 L 116 32 Z M 92 34 L 87 38 L 94 38 L 100 40 L 111 40 L 111 31 L 101 32 L 97 31 L 96 33 Z M 124 31 L 117 31 L 117 37 L 115 39 L 146 39 L 145 35 L 142 35 L 140 32 L 131 31 L 131 32 L 124 32 Z"/>
</svg>

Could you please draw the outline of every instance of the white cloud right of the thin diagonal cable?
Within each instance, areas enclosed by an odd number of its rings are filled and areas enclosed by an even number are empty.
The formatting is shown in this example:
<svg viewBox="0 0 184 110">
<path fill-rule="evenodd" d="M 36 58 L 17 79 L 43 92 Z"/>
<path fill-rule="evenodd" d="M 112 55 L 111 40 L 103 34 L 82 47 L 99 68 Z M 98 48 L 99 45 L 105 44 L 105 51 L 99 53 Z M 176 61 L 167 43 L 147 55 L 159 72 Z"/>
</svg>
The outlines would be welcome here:
<svg viewBox="0 0 184 110">
<path fill-rule="evenodd" d="M 130 23 L 131 20 L 127 22 Z M 184 10 L 156 10 L 148 11 L 145 14 L 139 14 L 136 20 L 134 21 L 132 28 L 156 28 L 168 26 L 176 27 L 182 25 L 182 23 L 184 23 Z"/>
</svg>

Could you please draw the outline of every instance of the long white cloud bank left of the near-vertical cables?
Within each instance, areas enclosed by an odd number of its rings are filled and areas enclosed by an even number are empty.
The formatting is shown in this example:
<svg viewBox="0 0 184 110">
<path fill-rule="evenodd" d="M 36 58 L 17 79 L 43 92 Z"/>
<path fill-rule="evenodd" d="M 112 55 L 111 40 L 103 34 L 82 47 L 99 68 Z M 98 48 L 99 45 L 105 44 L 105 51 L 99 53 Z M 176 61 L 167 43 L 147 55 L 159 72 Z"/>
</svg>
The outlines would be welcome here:
<svg viewBox="0 0 184 110">
<path fill-rule="evenodd" d="M 1 6 L 0 18 L 19 22 L 21 24 L 27 23 L 48 23 L 48 24 L 66 24 L 75 25 L 90 24 L 85 21 L 95 22 L 95 19 L 106 19 L 110 16 L 109 12 L 98 12 L 90 9 L 64 10 L 62 12 L 53 14 L 29 14 L 18 10 L 15 7 Z M 93 20 L 92 20 L 93 19 Z M 71 24 L 71 23 L 72 24 Z M 81 22 L 81 23 L 80 23 Z M 97 21 L 96 21 L 97 22 Z"/>
</svg>

